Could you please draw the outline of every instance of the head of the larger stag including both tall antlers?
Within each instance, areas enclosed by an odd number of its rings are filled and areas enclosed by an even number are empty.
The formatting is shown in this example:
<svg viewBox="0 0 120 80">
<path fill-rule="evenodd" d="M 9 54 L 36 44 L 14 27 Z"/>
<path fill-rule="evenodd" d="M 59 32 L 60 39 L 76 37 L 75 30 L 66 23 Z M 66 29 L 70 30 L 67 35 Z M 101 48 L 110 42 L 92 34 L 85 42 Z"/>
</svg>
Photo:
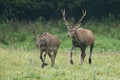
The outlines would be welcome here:
<svg viewBox="0 0 120 80">
<path fill-rule="evenodd" d="M 62 16 L 63 16 L 63 20 L 65 22 L 65 25 L 67 26 L 68 29 L 68 36 L 72 37 L 74 36 L 75 31 L 80 27 L 83 18 L 86 16 L 86 10 L 82 10 L 82 17 L 80 18 L 80 20 L 74 24 L 74 25 L 70 25 L 70 23 L 66 20 L 65 18 L 65 9 L 61 10 Z"/>
</svg>

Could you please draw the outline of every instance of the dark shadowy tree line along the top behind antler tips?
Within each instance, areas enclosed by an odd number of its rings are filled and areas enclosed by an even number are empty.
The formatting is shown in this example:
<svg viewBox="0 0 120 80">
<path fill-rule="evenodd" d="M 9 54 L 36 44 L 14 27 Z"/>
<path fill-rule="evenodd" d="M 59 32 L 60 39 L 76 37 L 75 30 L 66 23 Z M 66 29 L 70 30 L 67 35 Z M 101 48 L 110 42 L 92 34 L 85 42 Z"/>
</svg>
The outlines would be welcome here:
<svg viewBox="0 0 120 80">
<path fill-rule="evenodd" d="M 0 20 L 56 20 L 61 18 L 61 9 L 66 9 L 68 18 L 79 19 L 86 9 L 87 19 L 120 19 L 119 4 L 119 0 L 0 0 Z"/>
</svg>

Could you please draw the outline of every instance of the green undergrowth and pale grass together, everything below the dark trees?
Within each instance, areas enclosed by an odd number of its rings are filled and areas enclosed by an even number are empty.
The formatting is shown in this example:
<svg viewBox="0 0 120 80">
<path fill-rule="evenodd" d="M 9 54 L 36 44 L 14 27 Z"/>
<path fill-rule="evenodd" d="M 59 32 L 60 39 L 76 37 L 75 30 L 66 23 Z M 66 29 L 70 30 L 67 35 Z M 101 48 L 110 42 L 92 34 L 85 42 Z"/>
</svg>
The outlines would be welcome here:
<svg viewBox="0 0 120 80">
<path fill-rule="evenodd" d="M 91 65 L 88 63 L 89 48 L 82 65 L 79 49 L 76 49 L 76 54 L 73 55 L 74 64 L 70 64 L 71 39 L 67 37 L 66 26 L 61 20 L 1 22 L 0 80 L 119 80 L 120 24 L 114 21 L 103 22 L 87 22 L 82 25 L 95 34 Z M 37 34 L 48 31 L 60 39 L 61 45 L 54 67 L 51 67 L 47 56 L 48 66 L 41 68 L 39 49 L 35 47 L 33 31 Z"/>
</svg>

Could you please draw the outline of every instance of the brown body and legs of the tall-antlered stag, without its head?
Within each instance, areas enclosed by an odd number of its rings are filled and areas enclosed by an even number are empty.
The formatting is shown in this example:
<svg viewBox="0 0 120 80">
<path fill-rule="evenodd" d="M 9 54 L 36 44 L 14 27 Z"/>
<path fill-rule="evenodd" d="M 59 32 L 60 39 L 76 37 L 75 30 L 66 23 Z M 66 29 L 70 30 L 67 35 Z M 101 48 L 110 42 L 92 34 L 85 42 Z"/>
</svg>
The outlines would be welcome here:
<svg viewBox="0 0 120 80">
<path fill-rule="evenodd" d="M 86 56 L 85 50 L 87 46 L 90 46 L 89 64 L 92 63 L 91 54 L 94 46 L 94 39 L 95 39 L 94 34 L 89 29 L 79 28 L 77 30 L 74 30 L 74 34 L 72 32 L 72 49 L 71 49 L 71 59 L 70 59 L 71 64 L 73 64 L 72 54 L 73 54 L 74 48 L 79 47 L 81 49 L 81 52 L 82 52 L 81 60 L 83 63 Z"/>
</svg>

